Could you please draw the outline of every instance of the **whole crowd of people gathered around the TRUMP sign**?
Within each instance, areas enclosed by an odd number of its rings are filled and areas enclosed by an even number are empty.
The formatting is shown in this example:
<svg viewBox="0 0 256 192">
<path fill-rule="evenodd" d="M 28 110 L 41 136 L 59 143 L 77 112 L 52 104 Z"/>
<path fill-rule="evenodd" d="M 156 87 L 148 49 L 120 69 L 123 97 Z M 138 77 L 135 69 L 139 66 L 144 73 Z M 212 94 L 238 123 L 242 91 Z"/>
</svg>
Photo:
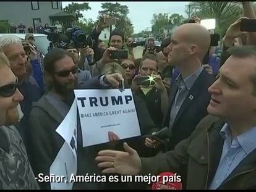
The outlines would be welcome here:
<svg viewBox="0 0 256 192">
<path fill-rule="evenodd" d="M 93 46 L 78 48 L 71 42 L 50 49 L 44 58 L 32 33 L 25 40 L 1 36 L 0 188 L 51 189 L 49 182 L 37 182 L 35 177 L 49 175 L 64 144 L 55 130 L 72 106 L 74 90 L 117 89 L 123 79 L 125 88 L 132 90 L 142 135 L 119 140 L 109 132 L 108 143 L 83 147 L 77 117 L 77 175 L 173 172 L 181 175 L 183 189 L 255 190 L 256 34 L 241 31 L 240 26 L 242 19 L 256 15 L 252 2 L 242 6 L 244 17 L 231 24 L 220 40 L 220 58 L 213 54 L 210 31 L 200 20 L 179 26 L 164 38 L 160 50 L 148 39 L 139 59 L 124 31 L 114 29 L 108 46 L 99 40 L 108 27 L 103 22 L 108 15 L 102 15 L 92 29 Z M 111 59 L 117 50 L 126 50 L 127 57 Z M 153 77 L 153 83 L 143 84 L 144 77 Z M 124 182 L 73 186 L 135 188 L 151 186 Z"/>
</svg>

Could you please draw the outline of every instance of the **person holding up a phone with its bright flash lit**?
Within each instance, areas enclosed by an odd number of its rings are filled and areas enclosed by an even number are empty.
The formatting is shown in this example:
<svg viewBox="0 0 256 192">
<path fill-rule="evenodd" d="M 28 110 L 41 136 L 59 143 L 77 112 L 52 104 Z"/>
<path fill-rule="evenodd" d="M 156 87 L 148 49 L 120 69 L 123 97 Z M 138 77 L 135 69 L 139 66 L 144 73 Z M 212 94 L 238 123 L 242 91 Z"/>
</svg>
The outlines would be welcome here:
<svg viewBox="0 0 256 192">
<path fill-rule="evenodd" d="M 145 55 L 140 61 L 139 75 L 134 77 L 131 89 L 134 94 L 146 102 L 151 119 L 158 127 L 161 127 L 163 116 L 167 111 L 168 94 L 157 72 L 158 60 L 156 56 Z"/>
</svg>

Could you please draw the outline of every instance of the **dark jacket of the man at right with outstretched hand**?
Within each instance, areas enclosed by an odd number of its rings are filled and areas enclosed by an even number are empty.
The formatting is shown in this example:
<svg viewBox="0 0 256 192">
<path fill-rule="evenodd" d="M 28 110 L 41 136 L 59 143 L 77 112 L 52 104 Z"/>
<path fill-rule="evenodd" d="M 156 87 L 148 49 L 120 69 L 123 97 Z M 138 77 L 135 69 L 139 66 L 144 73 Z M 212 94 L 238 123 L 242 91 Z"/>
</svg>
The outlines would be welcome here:
<svg viewBox="0 0 256 192">
<path fill-rule="evenodd" d="M 141 158 L 140 175 L 173 172 L 182 176 L 183 189 L 207 190 L 220 162 L 224 139 L 220 130 L 225 122 L 208 115 L 198 123 L 187 140 L 173 151 Z M 159 163 L 161 162 L 161 163 Z M 218 187 L 218 190 L 256 190 L 256 149 L 245 157 Z"/>
</svg>

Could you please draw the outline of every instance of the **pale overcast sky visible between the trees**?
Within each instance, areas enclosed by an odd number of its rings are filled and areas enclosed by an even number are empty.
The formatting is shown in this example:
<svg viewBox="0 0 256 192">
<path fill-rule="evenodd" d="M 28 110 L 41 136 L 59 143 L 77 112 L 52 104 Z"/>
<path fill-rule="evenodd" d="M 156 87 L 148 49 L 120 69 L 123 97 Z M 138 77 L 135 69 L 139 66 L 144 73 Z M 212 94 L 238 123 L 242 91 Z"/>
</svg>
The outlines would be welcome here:
<svg viewBox="0 0 256 192">
<path fill-rule="evenodd" d="M 62 2 L 62 7 L 66 7 L 67 4 L 71 2 Z M 98 17 L 98 11 L 101 10 L 101 2 L 88 2 L 91 10 L 83 12 L 83 17 L 86 19 L 96 20 Z M 111 1 L 115 3 L 114 1 Z M 117 1 L 119 2 L 119 1 Z M 83 2 L 77 2 L 83 3 Z M 177 13 L 186 17 L 185 8 L 189 2 L 119 2 L 121 5 L 126 5 L 129 7 L 128 17 L 134 25 L 134 33 L 139 33 L 142 30 L 145 30 L 147 27 L 151 27 L 151 19 L 153 14 L 159 13 L 168 13 L 169 15 Z"/>
</svg>

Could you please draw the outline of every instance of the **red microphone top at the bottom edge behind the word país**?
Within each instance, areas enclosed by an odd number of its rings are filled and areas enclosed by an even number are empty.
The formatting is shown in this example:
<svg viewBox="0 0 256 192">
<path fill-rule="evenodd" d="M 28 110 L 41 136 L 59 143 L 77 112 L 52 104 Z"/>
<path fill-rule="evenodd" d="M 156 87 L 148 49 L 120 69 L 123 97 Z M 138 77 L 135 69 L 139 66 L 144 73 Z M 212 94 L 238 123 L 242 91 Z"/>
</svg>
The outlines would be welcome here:
<svg viewBox="0 0 256 192">
<path fill-rule="evenodd" d="M 159 176 L 159 182 L 153 183 L 151 190 L 182 190 L 180 175 L 171 172 L 164 172 Z"/>
</svg>

